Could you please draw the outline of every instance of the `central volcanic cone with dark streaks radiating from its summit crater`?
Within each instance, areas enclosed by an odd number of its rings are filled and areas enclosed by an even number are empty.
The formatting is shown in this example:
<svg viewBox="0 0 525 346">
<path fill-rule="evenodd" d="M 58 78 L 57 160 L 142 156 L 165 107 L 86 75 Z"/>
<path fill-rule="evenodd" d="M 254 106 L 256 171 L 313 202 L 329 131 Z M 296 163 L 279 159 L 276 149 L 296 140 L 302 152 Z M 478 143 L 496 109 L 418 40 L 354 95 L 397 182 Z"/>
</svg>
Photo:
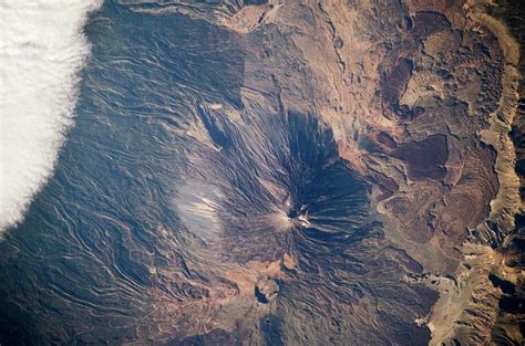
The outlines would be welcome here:
<svg viewBox="0 0 525 346">
<path fill-rule="evenodd" d="M 302 258 L 312 247 L 341 245 L 366 235 L 364 184 L 339 158 L 331 132 L 312 116 L 253 115 L 249 124 L 234 125 L 218 113 L 199 114 L 220 124 L 208 127 L 220 149 L 193 153 L 203 164 L 189 169 L 199 177 L 187 180 L 175 206 L 185 210 L 183 219 L 186 214 L 200 222 L 203 208 L 210 211 L 205 213 L 207 223 L 220 227 L 210 232 L 212 227 L 202 231 L 198 226 L 195 233 L 220 244 L 224 255 L 240 262 L 274 261 L 298 251 Z M 215 192 L 198 207 L 193 200 L 194 207 L 186 206 L 186 198 L 195 196 L 187 191 L 199 189 Z M 186 226 L 193 230 L 192 222 Z"/>
</svg>

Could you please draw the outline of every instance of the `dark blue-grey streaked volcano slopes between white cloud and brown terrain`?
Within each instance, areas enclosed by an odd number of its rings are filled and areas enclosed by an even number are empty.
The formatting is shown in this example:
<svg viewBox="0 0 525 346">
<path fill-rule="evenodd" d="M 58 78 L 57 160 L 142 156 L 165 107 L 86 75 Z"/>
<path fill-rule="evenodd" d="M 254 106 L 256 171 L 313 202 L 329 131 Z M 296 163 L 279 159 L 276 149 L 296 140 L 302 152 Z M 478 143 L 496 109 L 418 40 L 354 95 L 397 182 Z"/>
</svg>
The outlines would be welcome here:
<svg viewBox="0 0 525 346">
<path fill-rule="evenodd" d="M 246 111 L 239 38 L 112 3 L 86 34 L 76 126 L 0 244 L 2 345 L 428 342 L 414 321 L 436 294 L 403 281 L 421 266 L 315 115 Z M 227 273 L 285 254 L 297 265 L 257 297 L 271 311 L 237 308 Z"/>
</svg>

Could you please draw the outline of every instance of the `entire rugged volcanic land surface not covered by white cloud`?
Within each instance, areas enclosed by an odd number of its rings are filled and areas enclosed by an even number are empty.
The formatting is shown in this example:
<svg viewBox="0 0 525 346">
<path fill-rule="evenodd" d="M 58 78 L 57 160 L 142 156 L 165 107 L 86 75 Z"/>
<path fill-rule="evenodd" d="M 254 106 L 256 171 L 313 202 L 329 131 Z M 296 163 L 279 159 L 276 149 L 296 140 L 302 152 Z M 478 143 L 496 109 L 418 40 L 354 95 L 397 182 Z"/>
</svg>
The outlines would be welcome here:
<svg viewBox="0 0 525 346">
<path fill-rule="evenodd" d="M 86 25 L 64 168 L 1 244 L 0 293 L 16 297 L 0 302 L 3 339 L 523 342 L 525 123 L 507 11 L 105 3 Z M 75 248 L 58 255 L 47 239 Z"/>
</svg>

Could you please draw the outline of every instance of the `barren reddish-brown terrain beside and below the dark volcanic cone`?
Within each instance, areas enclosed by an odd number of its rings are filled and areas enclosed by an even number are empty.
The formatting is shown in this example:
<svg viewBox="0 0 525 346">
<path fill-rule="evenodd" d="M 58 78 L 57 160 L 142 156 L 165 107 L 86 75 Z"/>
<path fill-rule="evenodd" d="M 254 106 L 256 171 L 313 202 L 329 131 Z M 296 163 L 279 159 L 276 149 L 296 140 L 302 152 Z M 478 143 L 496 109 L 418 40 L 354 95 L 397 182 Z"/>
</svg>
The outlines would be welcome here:
<svg viewBox="0 0 525 346">
<path fill-rule="evenodd" d="M 523 314 L 505 319 L 498 302 L 507 293 L 495 281 L 523 282 L 523 271 L 509 264 L 519 250 L 505 243 L 521 208 L 508 135 L 519 98 L 519 46 L 488 14 L 495 4 L 173 2 L 137 10 L 178 12 L 238 33 L 246 53 L 243 103 L 317 114 L 332 130 L 339 155 L 372 187 L 384 254 L 421 266 L 403 280 L 439 292 L 430 314 L 416 321 L 431 329 L 431 344 L 523 340 Z M 238 292 L 209 292 L 220 295 L 214 304 L 243 295 L 267 303 L 279 294 L 275 281 L 295 270 L 288 253 L 280 262 L 248 262 L 225 274 Z M 331 300 L 320 295 L 318 303 L 323 298 Z M 219 342 L 228 337 L 210 333 Z"/>
</svg>

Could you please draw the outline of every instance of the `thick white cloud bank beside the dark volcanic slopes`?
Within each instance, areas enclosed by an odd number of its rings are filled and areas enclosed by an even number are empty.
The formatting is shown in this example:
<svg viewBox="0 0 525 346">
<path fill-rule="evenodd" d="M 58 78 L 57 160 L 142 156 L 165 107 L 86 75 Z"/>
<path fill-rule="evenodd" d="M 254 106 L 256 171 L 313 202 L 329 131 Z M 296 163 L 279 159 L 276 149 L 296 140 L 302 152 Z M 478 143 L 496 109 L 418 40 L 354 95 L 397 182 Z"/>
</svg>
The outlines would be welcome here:
<svg viewBox="0 0 525 346">
<path fill-rule="evenodd" d="M 93 0 L 0 1 L 0 237 L 51 176 L 73 124 Z"/>
</svg>

